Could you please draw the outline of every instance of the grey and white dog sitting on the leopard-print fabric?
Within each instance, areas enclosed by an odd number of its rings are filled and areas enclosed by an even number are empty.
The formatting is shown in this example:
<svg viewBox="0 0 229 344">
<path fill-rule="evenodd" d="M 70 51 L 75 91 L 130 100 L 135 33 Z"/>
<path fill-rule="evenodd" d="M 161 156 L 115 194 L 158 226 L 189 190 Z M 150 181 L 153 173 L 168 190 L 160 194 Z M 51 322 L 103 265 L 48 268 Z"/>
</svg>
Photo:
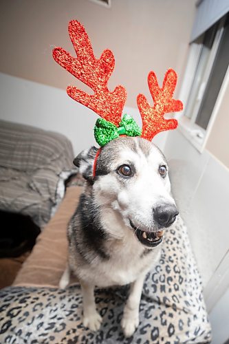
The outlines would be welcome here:
<svg viewBox="0 0 229 344">
<path fill-rule="evenodd" d="M 94 288 L 131 283 L 122 330 L 132 336 L 139 324 L 144 277 L 160 257 L 166 230 L 177 219 L 168 164 L 155 144 L 121 136 L 74 160 L 85 189 L 67 229 L 69 260 L 60 287 L 72 272 L 83 294 L 83 325 L 99 329 Z M 93 169 L 96 168 L 95 176 Z"/>
</svg>

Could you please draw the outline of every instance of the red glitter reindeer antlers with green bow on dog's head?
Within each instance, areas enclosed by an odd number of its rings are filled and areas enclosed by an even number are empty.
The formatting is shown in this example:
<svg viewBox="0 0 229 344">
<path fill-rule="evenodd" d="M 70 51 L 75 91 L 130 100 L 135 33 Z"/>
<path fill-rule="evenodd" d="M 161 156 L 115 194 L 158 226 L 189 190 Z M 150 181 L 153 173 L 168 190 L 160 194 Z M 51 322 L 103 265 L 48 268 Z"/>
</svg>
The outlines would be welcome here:
<svg viewBox="0 0 229 344">
<path fill-rule="evenodd" d="M 151 107 L 143 94 L 138 95 L 138 109 L 142 117 L 141 130 L 131 116 L 124 115 L 122 118 L 122 110 L 127 98 L 124 87 L 119 85 L 113 92 L 107 88 L 115 65 L 111 50 L 104 50 L 97 60 L 83 25 L 78 21 L 70 21 L 68 31 L 77 58 L 71 56 L 62 47 L 53 50 L 53 57 L 59 65 L 93 89 L 94 94 L 90 95 L 77 87 L 68 86 L 67 94 L 101 117 L 97 120 L 94 129 L 96 142 L 101 147 L 110 140 L 118 138 L 119 135 L 141 136 L 151 141 L 160 131 L 177 127 L 177 120 L 164 118 L 164 114 L 181 111 L 183 108 L 180 100 L 173 99 L 177 84 L 177 74 L 173 69 L 168 69 L 166 72 L 162 88 L 157 83 L 155 73 L 149 73 L 148 84 L 154 103 Z"/>
</svg>

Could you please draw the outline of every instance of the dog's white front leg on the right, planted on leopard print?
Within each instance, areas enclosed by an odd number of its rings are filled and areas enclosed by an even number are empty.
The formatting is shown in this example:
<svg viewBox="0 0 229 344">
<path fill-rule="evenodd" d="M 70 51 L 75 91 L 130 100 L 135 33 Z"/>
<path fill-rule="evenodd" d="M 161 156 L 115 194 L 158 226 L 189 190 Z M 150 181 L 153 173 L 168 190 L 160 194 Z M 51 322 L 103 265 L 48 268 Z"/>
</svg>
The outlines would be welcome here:
<svg viewBox="0 0 229 344">
<path fill-rule="evenodd" d="M 131 283 L 131 292 L 122 317 L 122 330 L 126 337 L 132 336 L 139 324 L 139 305 L 144 277 L 145 275 L 141 275 L 136 281 Z"/>
</svg>

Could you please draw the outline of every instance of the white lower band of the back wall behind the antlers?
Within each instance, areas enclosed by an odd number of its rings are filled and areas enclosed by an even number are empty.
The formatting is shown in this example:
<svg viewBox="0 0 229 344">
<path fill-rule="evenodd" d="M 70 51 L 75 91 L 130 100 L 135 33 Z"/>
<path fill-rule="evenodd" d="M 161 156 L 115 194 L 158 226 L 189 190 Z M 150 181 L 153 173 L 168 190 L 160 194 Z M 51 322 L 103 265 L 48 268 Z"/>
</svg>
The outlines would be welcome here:
<svg viewBox="0 0 229 344">
<path fill-rule="evenodd" d="M 98 146 L 93 131 L 98 115 L 69 98 L 63 89 L 0 73 L 0 105 L 2 120 L 63 133 L 72 141 L 75 154 Z M 141 125 L 138 109 L 125 107 L 124 111 Z M 154 140 L 162 150 L 166 135 L 160 133 Z"/>
</svg>

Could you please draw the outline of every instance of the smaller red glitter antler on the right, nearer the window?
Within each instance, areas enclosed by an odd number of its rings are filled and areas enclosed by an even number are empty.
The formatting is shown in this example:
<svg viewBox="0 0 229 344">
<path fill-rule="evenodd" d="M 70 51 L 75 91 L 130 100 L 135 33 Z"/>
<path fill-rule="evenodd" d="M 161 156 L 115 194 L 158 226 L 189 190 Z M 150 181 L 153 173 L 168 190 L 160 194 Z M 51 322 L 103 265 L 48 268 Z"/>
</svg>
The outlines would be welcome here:
<svg viewBox="0 0 229 344">
<path fill-rule="evenodd" d="M 142 117 L 142 138 L 151 141 L 153 136 L 160 131 L 175 129 L 177 120 L 166 120 L 164 114 L 173 111 L 181 111 L 183 104 L 180 100 L 173 99 L 173 92 L 177 84 L 177 74 L 173 69 L 168 69 L 164 76 L 162 88 L 157 83 L 154 72 L 148 76 L 148 85 L 153 97 L 151 107 L 143 94 L 137 98 L 138 109 Z"/>
</svg>

